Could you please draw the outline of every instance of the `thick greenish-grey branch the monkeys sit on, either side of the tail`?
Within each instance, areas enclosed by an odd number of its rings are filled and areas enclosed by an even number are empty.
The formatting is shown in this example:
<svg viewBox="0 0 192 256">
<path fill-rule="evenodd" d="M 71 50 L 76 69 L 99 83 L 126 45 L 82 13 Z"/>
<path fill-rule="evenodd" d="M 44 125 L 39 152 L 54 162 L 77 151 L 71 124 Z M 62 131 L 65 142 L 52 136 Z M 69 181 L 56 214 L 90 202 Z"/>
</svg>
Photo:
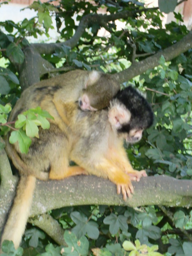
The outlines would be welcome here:
<svg viewBox="0 0 192 256">
<path fill-rule="evenodd" d="M 0 230 L 14 197 L 18 179 L 10 176 L 10 165 L 4 150 L 1 151 L 0 175 Z M 8 170 L 8 172 L 7 172 Z M 30 216 L 41 215 L 64 206 L 107 204 L 131 207 L 144 205 L 192 206 L 192 181 L 168 176 L 149 176 L 133 182 L 134 194 L 125 202 L 116 193 L 116 185 L 96 176 L 75 176 L 68 179 L 36 181 Z"/>
</svg>

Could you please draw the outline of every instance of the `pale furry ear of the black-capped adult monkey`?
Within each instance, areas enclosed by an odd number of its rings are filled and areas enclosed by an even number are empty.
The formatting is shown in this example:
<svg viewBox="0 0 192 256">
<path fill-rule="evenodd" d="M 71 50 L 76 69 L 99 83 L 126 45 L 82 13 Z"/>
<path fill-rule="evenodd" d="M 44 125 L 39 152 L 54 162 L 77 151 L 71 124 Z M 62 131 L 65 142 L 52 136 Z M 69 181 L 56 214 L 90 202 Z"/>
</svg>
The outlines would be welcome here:
<svg viewBox="0 0 192 256">
<path fill-rule="evenodd" d="M 124 104 L 120 104 L 118 101 L 113 101 L 109 108 L 109 122 L 112 127 L 119 129 L 122 124 L 128 124 L 131 119 L 131 112 L 125 107 Z"/>
</svg>

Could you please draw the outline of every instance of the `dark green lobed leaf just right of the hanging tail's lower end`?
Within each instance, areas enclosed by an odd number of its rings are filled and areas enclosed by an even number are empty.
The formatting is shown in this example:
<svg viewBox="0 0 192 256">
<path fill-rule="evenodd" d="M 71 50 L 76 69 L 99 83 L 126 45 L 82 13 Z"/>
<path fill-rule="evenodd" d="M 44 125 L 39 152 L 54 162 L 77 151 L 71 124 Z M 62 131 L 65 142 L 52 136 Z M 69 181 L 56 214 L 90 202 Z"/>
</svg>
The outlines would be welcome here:
<svg viewBox="0 0 192 256">
<path fill-rule="evenodd" d="M 39 238 L 45 239 L 44 232 L 41 230 L 38 230 L 36 228 L 31 228 L 31 229 L 26 230 L 25 236 L 27 238 L 30 238 L 29 245 L 34 248 L 37 248 L 37 246 L 39 244 Z"/>
</svg>

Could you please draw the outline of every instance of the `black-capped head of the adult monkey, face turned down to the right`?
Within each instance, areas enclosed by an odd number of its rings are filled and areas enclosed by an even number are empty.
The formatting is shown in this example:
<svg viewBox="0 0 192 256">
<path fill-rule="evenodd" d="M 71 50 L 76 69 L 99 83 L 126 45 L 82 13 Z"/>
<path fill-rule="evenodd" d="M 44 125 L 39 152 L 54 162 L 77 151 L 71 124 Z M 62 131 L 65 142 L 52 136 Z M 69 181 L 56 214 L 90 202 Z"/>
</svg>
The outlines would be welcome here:
<svg viewBox="0 0 192 256">
<path fill-rule="evenodd" d="M 142 138 L 143 130 L 152 125 L 153 111 L 146 99 L 128 86 L 111 101 L 109 121 L 127 143 L 135 143 Z"/>
</svg>

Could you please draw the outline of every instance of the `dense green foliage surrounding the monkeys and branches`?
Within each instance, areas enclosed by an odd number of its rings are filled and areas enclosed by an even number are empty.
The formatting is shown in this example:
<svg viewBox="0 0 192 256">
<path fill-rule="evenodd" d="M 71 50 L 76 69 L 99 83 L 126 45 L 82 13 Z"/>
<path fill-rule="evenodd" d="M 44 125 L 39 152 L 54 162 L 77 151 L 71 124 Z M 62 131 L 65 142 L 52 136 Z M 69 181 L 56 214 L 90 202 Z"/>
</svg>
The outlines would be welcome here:
<svg viewBox="0 0 192 256">
<path fill-rule="evenodd" d="M 176 1 L 170 2 L 174 6 Z M 174 13 L 176 21 L 163 26 L 163 14 L 158 8 L 147 8 L 135 0 L 62 0 L 55 6 L 38 1 L 29 8 L 37 11 L 31 20 L 0 23 L 0 134 L 4 136 L 13 128 L 10 142 L 18 140 L 23 152 L 29 148 L 29 137 L 38 136 L 38 125 L 49 128 L 46 118 L 50 117 L 36 109 L 20 115 L 14 124 L 7 123 L 10 104 L 14 106 L 26 86 L 71 68 L 121 72 L 188 34 L 180 14 Z M 98 17 L 101 12 L 104 16 Z M 55 48 L 42 43 L 39 37 L 45 34 L 49 41 L 54 19 L 58 33 Z M 100 30 L 102 27 L 105 31 Z M 75 41 L 78 29 L 79 33 L 84 31 Z M 39 44 L 32 44 L 34 38 Z M 25 59 L 29 57 L 26 49 L 31 46 L 48 68 L 37 72 L 29 66 L 36 76 L 30 80 Z M 129 145 L 127 152 L 134 168 L 145 169 L 148 175 L 191 179 L 192 49 L 169 62 L 165 59 L 162 55 L 157 67 L 137 76 L 131 74 L 129 83 L 146 93 L 155 121 L 140 143 Z M 122 82 L 122 88 L 128 85 L 128 81 Z M 3 150 L 3 142 L 0 147 Z M 48 233 L 28 224 L 23 250 L 15 251 L 11 242 L 4 242 L 2 255 L 191 255 L 190 208 L 72 206 L 49 214 L 65 229 L 64 247 L 56 245 Z"/>
</svg>

